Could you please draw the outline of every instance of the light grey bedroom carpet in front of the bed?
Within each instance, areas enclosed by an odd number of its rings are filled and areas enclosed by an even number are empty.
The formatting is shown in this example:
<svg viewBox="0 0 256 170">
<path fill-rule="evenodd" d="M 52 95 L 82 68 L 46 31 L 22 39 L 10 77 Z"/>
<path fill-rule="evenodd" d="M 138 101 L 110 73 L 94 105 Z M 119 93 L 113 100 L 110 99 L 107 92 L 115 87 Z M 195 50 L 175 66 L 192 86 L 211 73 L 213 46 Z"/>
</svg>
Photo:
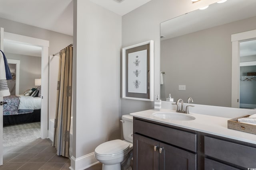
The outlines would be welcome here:
<svg viewBox="0 0 256 170">
<path fill-rule="evenodd" d="M 41 137 L 40 122 L 10 125 L 3 128 L 3 146 L 28 143 Z"/>
</svg>

